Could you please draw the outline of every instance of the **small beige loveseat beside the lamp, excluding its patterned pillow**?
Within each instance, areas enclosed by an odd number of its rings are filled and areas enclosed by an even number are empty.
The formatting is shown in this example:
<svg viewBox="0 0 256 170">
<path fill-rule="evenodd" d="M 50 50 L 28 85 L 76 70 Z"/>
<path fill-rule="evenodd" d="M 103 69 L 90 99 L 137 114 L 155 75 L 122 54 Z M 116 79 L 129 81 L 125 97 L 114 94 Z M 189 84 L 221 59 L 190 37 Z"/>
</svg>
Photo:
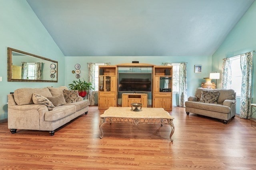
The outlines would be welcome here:
<svg viewBox="0 0 256 170">
<path fill-rule="evenodd" d="M 216 103 L 204 103 L 200 101 L 202 90 L 219 91 Z M 196 113 L 198 115 L 221 119 L 224 121 L 224 124 L 227 124 L 236 114 L 236 93 L 232 89 L 197 88 L 195 96 L 188 97 L 185 106 L 187 115 L 189 113 Z"/>
</svg>

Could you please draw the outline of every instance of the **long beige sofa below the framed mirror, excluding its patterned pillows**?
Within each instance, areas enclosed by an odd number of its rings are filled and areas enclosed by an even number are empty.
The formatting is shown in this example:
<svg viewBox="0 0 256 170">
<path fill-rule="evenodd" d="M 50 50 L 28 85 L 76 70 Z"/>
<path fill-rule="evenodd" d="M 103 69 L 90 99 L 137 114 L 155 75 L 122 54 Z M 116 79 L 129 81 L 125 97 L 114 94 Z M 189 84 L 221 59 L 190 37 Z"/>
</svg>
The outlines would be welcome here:
<svg viewBox="0 0 256 170">
<path fill-rule="evenodd" d="M 57 128 L 68 123 L 72 119 L 88 113 L 89 101 L 77 97 L 78 101 L 73 103 L 60 103 L 53 110 L 43 104 L 34 104 L 33 93 L 44 97 L 64 97 L 64 89 L 67 87 L 46 88 L 21 88 L 8 95 L 8 128 L 10 132 L 16 133 L 17 129 L 47 130 L 54 135 Z M 58 103 L 60 100 L 56 100 Z M 63 99 L 62 99 L 63 101 Z M 69 101 L 70 102 L 70 101 Z"/>
</svg>

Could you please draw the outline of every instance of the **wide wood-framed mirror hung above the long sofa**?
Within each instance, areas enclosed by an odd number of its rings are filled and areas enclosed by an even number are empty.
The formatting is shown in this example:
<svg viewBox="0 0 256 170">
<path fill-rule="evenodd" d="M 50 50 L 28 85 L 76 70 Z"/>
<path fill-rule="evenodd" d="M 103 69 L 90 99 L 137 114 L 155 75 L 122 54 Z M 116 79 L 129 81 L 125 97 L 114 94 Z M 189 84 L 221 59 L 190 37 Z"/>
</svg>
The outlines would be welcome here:
<svg viewBox="0 0 256 170">
<path fill-rule="evenodd" d="M 7 49 L 8 81 L 58 82 L 58 61 Z"/>
</svg>

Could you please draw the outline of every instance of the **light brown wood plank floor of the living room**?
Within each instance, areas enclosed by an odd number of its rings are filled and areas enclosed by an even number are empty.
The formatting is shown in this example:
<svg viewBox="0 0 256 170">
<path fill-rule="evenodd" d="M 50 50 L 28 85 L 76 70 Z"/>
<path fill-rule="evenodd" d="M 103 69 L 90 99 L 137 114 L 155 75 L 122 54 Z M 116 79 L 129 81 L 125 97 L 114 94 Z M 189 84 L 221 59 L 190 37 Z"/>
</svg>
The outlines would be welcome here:
<svg viewBox="0 0 256 170">
<path fill-rule="evenodd" d="M 104 124 L 100 139 L 103 112 L 92 106 L 54 136 L 36 130 L 11 134 L 7 123 L 0 123 L 0 169 L 256 168 L 256 128 L 250 120 L 235 117 L 224 125 L 174 107 L 173 142 L 168 125 Z"/>
</svg>

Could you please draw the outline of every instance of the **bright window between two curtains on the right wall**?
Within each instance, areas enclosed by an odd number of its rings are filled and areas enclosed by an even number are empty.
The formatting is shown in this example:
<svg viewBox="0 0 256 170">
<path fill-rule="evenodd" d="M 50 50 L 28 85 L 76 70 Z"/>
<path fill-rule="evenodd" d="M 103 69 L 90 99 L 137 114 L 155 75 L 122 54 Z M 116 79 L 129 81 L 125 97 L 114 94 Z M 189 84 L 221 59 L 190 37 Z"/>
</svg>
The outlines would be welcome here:
<svg viewBox="0 0 256 170">
<path fill-rule="evenodd" d="M 242 70 L 240 67 L 240 55 L 230 57 L 231 66 L 231 89 L 234 89 L 237 96 L 241 95 Z"/>
</svg>

